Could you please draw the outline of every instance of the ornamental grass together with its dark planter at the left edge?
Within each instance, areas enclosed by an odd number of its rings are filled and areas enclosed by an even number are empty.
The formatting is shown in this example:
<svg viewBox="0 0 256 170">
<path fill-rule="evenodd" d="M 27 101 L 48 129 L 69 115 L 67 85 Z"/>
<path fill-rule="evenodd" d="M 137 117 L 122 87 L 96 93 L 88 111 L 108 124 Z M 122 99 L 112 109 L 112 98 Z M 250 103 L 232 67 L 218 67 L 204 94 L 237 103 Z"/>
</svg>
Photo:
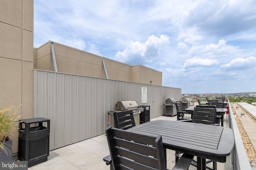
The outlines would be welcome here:
<svg viewBox="0 0 256 170">
<path fill-rule="evenodd" d="M 19 107 L 19 106 L 18 106 Z M 20 116 L 15 106 L 4 105 L 0 109 L 0 160 L 12 160 L 12 139 L 18 136 L 15 123 Z"/>
</svg>

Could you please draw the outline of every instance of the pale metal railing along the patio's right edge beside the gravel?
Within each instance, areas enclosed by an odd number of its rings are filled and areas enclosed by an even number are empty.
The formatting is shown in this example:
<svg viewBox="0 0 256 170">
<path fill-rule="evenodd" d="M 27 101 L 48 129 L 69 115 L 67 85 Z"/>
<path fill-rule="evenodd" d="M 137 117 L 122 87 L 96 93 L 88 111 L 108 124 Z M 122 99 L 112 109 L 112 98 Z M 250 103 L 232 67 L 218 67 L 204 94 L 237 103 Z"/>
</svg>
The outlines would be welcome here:
<svg viewBox="0 0 256 170">
<path fill-rule="evenodd" d="M 244 144 L 236 124 L 236 119 L 234 117 L 234 113 L 232 111 L 230 102 L 228 100 L 229 107 L 229 126 L 234 132 L 235 145 L 232 151 L 232 170 L 250 170 L 250 162 L 248 160 L 246 150 L 244 148 Z"/>
</svg>

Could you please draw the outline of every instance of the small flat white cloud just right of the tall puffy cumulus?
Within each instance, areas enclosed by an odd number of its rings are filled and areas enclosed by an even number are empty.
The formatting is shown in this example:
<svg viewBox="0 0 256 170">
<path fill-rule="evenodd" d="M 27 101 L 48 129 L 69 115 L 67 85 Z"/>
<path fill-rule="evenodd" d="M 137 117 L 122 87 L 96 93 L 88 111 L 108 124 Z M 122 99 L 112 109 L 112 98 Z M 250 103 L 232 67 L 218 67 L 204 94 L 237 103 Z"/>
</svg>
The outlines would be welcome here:
<svg viewBox="0 0 256 170">
<path fill-rule="evenodd" d="M 201 59 L 199 57 L 194 57 L 192 59 L 185 60 L 182 68 L 198 67 L 198 66 L 212 66 L 218 64 L 215 59 Z"/>
</svg>

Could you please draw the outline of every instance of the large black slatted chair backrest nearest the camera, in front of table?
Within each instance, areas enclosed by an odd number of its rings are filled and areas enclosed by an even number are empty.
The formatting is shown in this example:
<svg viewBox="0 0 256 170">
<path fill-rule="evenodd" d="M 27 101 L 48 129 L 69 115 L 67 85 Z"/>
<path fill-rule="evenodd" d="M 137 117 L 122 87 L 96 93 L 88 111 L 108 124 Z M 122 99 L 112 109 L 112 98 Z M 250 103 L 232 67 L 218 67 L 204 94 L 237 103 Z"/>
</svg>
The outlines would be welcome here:
<svg viewBox="0 0 256 170">
<path fill-rule="evenodd" d="M 114 170 L 166 169 L 162 137 L 109 127 L 108 147 Z"/>
</svg>

